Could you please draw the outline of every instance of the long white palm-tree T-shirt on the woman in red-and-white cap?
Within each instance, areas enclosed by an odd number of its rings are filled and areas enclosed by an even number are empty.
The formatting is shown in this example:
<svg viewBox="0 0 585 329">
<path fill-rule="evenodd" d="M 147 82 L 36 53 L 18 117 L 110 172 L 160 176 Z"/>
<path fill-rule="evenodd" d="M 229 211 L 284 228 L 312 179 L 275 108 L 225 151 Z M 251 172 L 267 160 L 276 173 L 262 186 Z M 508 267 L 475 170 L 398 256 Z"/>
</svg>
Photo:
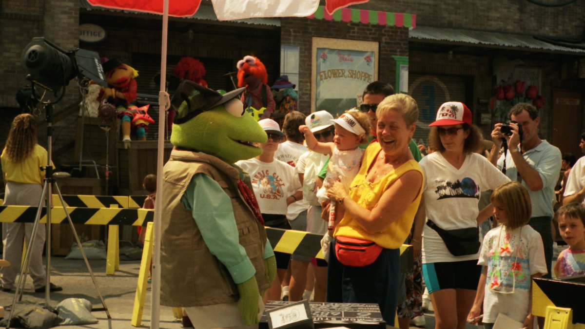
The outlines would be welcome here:
<svg viewBox="0 0 585 329">
<path fill-rule="evenodd" d="M 470 153 L 456 169 L 441 152 L 422 158 L 419 164 L 425 173 L 423 197 L 426 218 L 442 229 L 477 226 L 477 204 L 482 191 L 494 190 L 509 181 L 485 157 Z M 479 241 L 479 234 L 477 236 Z M 473 255 L 453 256 L 439 234 L 425 224 L 422 234 L 422 263 L 459 262 L 479 258 Z"/>
</svg>

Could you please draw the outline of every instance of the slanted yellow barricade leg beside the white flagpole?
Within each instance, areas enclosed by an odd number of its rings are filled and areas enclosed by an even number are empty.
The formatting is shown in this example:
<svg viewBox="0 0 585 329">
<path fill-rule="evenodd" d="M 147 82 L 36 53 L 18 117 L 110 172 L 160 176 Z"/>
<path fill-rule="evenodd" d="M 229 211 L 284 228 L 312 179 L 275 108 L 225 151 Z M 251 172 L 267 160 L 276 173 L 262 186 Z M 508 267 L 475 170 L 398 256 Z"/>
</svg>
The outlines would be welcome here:
<svg viewBox="0 0 585 329">
<path fill-rule="evenodd" d="M 153 240 L 153 223 L 146 225 L 146 236 L 144 237 L 144 249 L 142 250 L 142 260 L 140 261 L 140 271 L 138 272 L 138 284 L 136 287 L 136 296 L 134 297 L 134 309 L 132 310 L 132 322 L 134 327 L 142 325 L 142 312 L 144 311 L 144 297 L 146 297 L 146 287 L 148 275 L 150 272 L 150 260 L 152 259 L 152 240 Z M 181 314 L 183 317 L 183 314 Z"/>
</svg>

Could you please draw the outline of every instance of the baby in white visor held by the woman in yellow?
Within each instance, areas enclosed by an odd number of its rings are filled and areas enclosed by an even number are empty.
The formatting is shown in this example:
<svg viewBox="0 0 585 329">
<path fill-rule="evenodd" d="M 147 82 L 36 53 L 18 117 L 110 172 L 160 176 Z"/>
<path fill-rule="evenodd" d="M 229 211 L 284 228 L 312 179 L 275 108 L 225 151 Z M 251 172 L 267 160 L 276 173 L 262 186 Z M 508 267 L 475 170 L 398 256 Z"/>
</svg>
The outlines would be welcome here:
<svg viewBox="0 0 585 329">
<path fill-rule="evenodd" d="M 333 186 L 333 183 L 340 181 L 346 190 L 352 183 L 362 165 L 364 150 L 360 149 L 361 144 L 369 141 L 370 121 L 367 114 L 350 109 L 337 119 L 332 119 L 335 124 L 335 136 L 332 143 L 322 143 L 315 139 L 308 126 L 302 125 L 298 129 L 305 134 L 305 141 L 309 150 L 329 155 L 327 175 L 323 186 L 317 192 L 319 201 L 325 201 L 326 190 Z M 335 203 L 331 203 L 329 216 L 329 227 L 333 227 L 332 219 L 335 213 Z"/>
</svg>

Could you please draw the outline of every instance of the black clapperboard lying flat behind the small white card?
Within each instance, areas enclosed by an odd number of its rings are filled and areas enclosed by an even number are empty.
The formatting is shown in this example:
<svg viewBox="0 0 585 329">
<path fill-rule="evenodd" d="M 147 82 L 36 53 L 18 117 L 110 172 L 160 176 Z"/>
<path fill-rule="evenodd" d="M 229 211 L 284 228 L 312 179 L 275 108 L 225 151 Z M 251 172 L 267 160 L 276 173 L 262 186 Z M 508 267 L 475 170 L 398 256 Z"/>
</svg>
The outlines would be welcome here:
<svg viewBox="0 0 585 329">
<path fill-rule="evenodd" d="M 259 329 L 268 329 L 266 310 L 292 304 L 292 301 L 269 301 L 260 318 Z M 386 329 L 378 304 L 309 303 L 315 328 L 347 327 Z"/>
</svg>

